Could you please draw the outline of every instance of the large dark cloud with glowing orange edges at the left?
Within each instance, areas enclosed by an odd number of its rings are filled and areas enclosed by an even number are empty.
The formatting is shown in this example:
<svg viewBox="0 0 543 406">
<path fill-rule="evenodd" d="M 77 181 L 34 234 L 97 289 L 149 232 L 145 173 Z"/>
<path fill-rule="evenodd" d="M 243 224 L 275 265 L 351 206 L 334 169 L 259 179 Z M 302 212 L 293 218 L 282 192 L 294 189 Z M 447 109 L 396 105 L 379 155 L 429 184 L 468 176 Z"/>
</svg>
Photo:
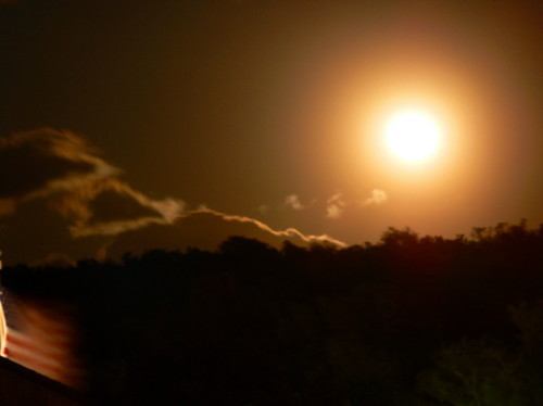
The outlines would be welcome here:
<svg viewBox="0 0 543 406">
<path fill-rule="evenodd" d="M 132 189 L 121 179 L 121 169 L 98 154 L 83 137 L 66 130 L 40 128 L 0 138 L 0 215 L 45 199 L 68 220 L 74 237 L 84 237 L 171 223 L 184 210 L 179 200 L 152 200 Z M 131 211 L 131 218 L 116 218 L 112 213 L 118 212 L 119 202 L 139 210 Z"/>
</svg>

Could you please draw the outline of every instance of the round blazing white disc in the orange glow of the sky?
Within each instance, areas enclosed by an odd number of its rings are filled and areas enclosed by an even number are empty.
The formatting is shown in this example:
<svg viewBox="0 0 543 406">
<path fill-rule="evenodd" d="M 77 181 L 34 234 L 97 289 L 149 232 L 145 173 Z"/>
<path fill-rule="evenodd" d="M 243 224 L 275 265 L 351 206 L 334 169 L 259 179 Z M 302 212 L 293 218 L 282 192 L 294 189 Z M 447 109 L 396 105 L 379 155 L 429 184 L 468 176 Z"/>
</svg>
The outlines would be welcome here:
<svg viewBox="0 0 543 406">
<path fill-rule="evenodd" d="M 433 157 L 441 142 L 441 129 L 430 115 L 404 112 L 386 125 L 387 147 L 400 158 L 417 163 Z"/>
</svg>

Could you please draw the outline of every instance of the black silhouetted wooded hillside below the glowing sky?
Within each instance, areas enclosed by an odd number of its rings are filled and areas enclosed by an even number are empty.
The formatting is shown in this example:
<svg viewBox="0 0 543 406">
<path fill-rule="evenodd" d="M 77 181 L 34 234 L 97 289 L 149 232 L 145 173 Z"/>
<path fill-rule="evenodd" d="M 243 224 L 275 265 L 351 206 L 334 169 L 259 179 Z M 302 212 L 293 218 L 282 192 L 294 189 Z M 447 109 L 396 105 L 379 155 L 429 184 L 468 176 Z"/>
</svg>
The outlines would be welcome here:
<svg viewBox="0 0 543 406">
<path fill-rule="evenodd" d="M 543 404 L 543 226 L 16 266 L 77 304 L 89 397 L 112 405 Z"/>
</svg>

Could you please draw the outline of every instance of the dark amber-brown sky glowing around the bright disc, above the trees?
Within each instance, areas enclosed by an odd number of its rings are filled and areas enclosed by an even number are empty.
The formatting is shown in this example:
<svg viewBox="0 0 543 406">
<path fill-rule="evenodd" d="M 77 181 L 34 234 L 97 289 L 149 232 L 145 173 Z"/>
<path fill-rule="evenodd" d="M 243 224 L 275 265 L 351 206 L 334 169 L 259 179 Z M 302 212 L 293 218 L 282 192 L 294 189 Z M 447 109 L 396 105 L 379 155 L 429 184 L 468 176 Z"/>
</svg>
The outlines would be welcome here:
<svg viewBox="0 0 543 406">
<path fill-rule="evenodd" d="M 539 1 L 0 4 L 7 263 L 543 221 Z M 446 134 L 409 166 L 412 105 Z"/>
</svg>

